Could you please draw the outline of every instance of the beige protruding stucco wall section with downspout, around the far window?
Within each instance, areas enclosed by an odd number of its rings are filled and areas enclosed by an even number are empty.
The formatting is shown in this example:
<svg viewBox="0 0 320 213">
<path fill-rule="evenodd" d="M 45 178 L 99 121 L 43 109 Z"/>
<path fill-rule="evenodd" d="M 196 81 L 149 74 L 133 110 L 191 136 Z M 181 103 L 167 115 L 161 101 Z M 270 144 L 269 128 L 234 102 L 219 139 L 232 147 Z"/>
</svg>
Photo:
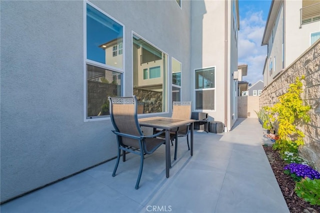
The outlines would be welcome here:
<svg viewBox="0 0 320 213">
<path fill-rule="evenodd" d="M 237 70 L 237 49 L 234 47 L 235 36 L 232 31 L 233 13 L 231 6 L 231 1 L 227 1 L 227 4 L 220 0 L 191 1 L 191 70 L 215 67 L 215 109 L 203 111 L 208 113 L 210 119 L 214 118 L 214 120 L 223 122 L 228 130 L 231 129 L 235 121 L 233 106 L 236 103 L 235 96 L 232 93 L 234 82 L 231 79 L 231 73 Z M 227 17 L 225 12 L 227 12 Z M 225 18 L 227 18 L 227 26 L 225 26 Z M 227 35 L 227 41 L 225 41 L 225 34 Z M 227 44 L 226 48 L 225 43 Z M 226 56 L 225 51 L 227 51 Z M 226 66 L 224 64 L 225 58 L 227 59 Z M 227 81 L 225 81 L 225 72 L 227 72 Z M 194 88 L 193 75 L 191 85 Z M 225 84 L 227 85 L 226 98 L 224 96 Z M 192 99 L 194 100 L 194 91 L 192 92 Z M 193 110 L 194 108 L 192 106 Z M 227 123 L 225 123 L 225 110 Z"/>
</svg>

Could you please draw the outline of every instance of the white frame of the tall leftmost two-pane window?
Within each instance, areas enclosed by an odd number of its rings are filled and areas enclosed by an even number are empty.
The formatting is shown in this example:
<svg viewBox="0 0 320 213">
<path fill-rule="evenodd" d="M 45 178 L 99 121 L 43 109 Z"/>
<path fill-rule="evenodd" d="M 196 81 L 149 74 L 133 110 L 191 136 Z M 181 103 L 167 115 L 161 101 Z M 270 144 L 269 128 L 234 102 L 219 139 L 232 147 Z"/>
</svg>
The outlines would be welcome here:
<svg viewBox="0 0 320 213">
<path fill-rule="evenodd" d="M 87 29 L 87 25 L 86 25 L 86 5 L 89 4 L 90 6 L 92 6 L 93 8 L 95 8 L 96 10 L 98 10 L 99 12 L 101 12 L 102 14 L 104 14 L 105 16 L 107 16 L 108 18 L 112 19 L 113 21 L 115 21 L 116 23 L 118 23 L 119 25 L 122 26 L 122 54 L 125 55 L 125 50 L 124 50 L 124 46 L 125 46 L 125 26 L 124 24 L 122 24 L 120 21 L 118 21 L 117 19 L 115 19 L 114 17 L 112 17 L 111 15 L 109 15 L 108 13 L 106 13 L 105 11 L 103 11 L 102 9 L 100 9 L 98 6 L 96 6 L 95 4 L 84 0 L 83 1 L 83 121 L 87 122 L 87 121 L 98 121 L 98 120 L 109 120 L 110 116 L 92 116 L 92 117 L 88 117 L 87 116 L 87 69 L 86 69 L 86 65 L 92 65 L 92 66 L 97 66 L 100 68 L 105 68 L 108 69 L 110 71 L 115 71 L 118 72 L 118 74 L 121 74 L 121 96 L 123 96 L 124 90 L 125 90 L 125 74 L 124 74 L 124 69 L 125 69 L 125 57 L 123 56 L 122 58 L 122 68 L 118 68 L 118 67 L 114 67 L 114 66 L 110 66 L 107 64 L 103 64 L 94 60 L 90 60 L 87 59 L 87 54 L 86 54 L 86 48 L 87 48 L 87 42 L 86 42 L 86 29 Z"/>
</svg>

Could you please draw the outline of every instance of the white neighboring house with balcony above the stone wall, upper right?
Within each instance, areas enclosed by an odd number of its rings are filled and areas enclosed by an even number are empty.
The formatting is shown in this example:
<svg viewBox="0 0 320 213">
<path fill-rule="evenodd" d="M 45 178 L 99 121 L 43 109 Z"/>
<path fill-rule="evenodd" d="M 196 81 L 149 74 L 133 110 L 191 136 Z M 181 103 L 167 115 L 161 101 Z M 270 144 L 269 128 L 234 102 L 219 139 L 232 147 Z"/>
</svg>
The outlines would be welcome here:
<svg viewBox="0 0 320 213">
<path fill-rule="evenodd" d="M 272 0 L 261 45 L 267 45 L 264 86 L 320 38 L 319 0 Z"/>
</svg>

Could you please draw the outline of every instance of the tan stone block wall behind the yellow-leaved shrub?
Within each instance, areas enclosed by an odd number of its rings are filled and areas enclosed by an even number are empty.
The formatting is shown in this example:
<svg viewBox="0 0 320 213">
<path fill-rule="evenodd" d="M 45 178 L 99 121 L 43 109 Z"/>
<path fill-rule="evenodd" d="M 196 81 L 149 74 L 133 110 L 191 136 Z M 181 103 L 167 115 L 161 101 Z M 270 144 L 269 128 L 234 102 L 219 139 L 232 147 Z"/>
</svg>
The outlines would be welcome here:
<svg viewBox="0 0 320 213">
<path fill-rule="evenodd" d="M 301 75 L 305 76 L 302 81 L 304 92 L 301 98 L 305 104 L 311 106 L 309 111 L 311 121 L 301 126 L 305 137 L 304 145 L 299 148 L 299 154 L 320 168 L 320 40 L 313 43 L 262 90 L 259 108 L 277 102 L 277 97 L 286 92 L 288 85 Z"/>
</svg>

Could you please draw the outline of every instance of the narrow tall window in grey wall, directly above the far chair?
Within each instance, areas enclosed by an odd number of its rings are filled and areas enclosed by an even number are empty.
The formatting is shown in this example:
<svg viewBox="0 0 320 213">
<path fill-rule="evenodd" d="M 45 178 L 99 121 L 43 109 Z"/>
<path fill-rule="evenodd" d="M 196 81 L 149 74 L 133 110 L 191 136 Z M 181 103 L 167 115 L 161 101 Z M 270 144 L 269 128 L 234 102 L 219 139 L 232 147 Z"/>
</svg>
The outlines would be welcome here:
<svg viewBox="0 0 320 213">
<path fill-rule="evenodd" d="M 181 63 L 171 58 L 172 101 L 181 100 Z"/>
</svg>

